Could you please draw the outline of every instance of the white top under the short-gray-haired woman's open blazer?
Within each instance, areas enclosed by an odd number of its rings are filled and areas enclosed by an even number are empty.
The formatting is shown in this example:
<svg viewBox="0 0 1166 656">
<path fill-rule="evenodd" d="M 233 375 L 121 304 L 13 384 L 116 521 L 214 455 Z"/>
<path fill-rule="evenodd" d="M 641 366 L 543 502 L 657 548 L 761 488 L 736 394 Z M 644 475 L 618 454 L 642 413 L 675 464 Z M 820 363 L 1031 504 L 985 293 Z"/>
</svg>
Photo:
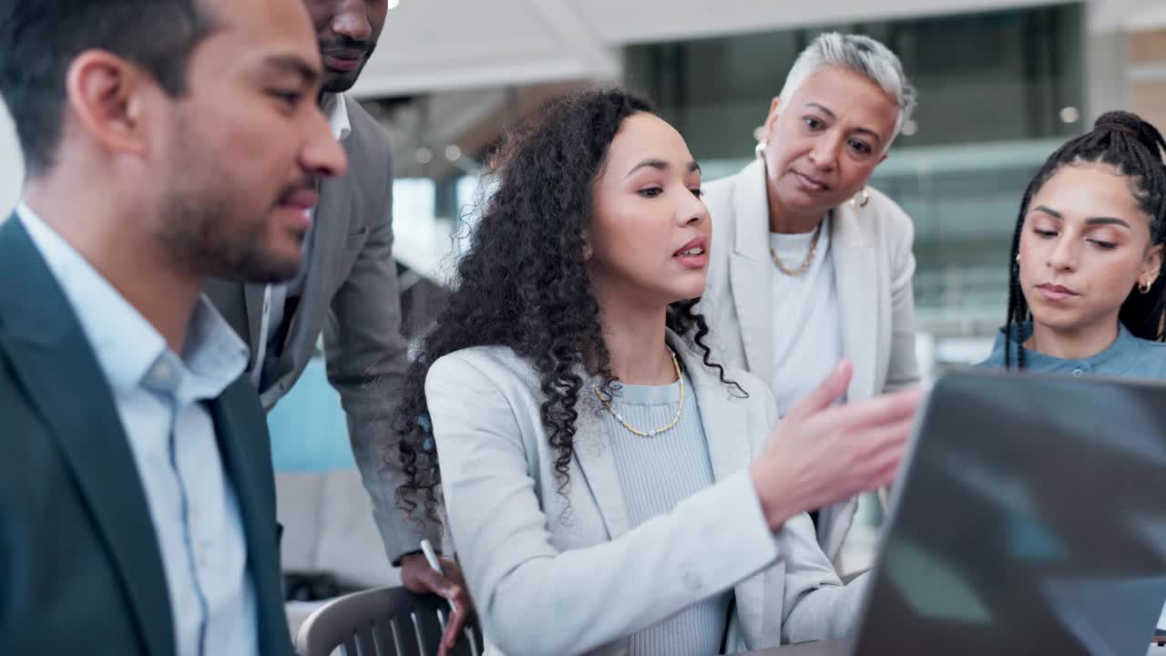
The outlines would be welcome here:
<svg viewBox="0 0 1166 656">
<path fill-rule="evenodd" d="M 798 268 L 809 252 L 813 232 L 770 233 L 770 247 L 782 266 Z M 773 398 L 778 414 L 814 390 L 842 357 L 842 314 L 830 261 L 830 217 L 822 219 L 822 235 L 809 270 L 786 275 L 771 266 L 773 284 Z"/>
</svg>

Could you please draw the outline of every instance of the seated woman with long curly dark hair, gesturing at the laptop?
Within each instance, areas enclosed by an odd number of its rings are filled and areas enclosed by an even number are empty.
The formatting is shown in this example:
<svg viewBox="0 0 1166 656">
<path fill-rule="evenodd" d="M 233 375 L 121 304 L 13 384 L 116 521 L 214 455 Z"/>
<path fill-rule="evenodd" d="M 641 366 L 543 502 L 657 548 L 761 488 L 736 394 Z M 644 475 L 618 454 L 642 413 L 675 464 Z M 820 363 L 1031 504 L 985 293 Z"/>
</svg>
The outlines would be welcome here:
<svg viewBox="0 0 1166 656">
<path fill-rule="evenodd" d="M 401 503 L 444 496 L 491 650 L 850 631 L 862 584 L 841 584 L 805 510 L 892 479 L 919 395 L 830 407 L 841 363 L 774 430 L 767 388 L 705 346 L 701 172 L 645 100 L 553 102 L 496 161 L 399 425 Z"/>
</svg>

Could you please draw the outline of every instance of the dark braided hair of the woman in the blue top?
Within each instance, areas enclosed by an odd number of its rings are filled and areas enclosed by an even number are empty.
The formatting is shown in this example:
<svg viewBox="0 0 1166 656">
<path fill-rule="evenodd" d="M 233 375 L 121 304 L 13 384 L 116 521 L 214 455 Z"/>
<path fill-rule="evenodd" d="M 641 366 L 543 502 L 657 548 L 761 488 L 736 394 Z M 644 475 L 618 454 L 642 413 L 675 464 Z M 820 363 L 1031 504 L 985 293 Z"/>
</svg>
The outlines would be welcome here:
<svg viewBox="0 0 1166 656">
<path fill-rule="evenodd" d="M 1150 242 L 1166 242 L 1166 168 L 1163 165 L 1163 139 L 1153 125 L 1130 112 L 1107 112 L 1097 118 L 1091 131 L 1070 139 L 1045 160 L 1045 165 L 1028 183 L 1020 203 L 1020 216 L 1012 233 L 1011 273 L 1009 275 L 1009 313 L 1005 319 L 1007 332 L 1004 348 L 1004 368 L 1012 369 L 1012 343 L 1021 339 L 1021 324 L 1032 321 L 1032 310 L 1020 289 L 1020 235 L 1024 217 L 1028 212 L 1032 197 L 1063 166 L 1108 163 L 1130 179 L 1131 190 L 1138 208 L 1150 217 Z M 1119 320 L 1135 336 L 1144 340 L 1164 341 L 1164 313 L 1166 313 L 1166 258 L 1158 278 L 1146 293 L 1131 291 L 1122 303 Z M 1025 368 L 1024 349 L 1016 349 L 1016 365 Z"/>
</svg>

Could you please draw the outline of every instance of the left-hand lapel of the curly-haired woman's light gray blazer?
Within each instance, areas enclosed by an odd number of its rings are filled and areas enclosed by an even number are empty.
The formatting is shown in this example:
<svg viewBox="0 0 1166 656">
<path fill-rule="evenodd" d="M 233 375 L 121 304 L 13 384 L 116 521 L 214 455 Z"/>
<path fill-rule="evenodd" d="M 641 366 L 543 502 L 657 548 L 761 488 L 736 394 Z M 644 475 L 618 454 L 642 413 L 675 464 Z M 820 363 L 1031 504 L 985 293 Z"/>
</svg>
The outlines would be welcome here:
<svg viewBox="0 0 1166 656">
<path fill-rule="evenodd" d="M 616 539 L 627 532 L 627 501 L 624 487 L 616 470 L 616 456 L 611 451 L 611 437 L 599 414 L 603 407 L 591 383 L 581 392 L 578 419 L 575 421 L 575 460 L 583 472 L 583 481 L 603 516 L 607 537 Z"/>
</svg>

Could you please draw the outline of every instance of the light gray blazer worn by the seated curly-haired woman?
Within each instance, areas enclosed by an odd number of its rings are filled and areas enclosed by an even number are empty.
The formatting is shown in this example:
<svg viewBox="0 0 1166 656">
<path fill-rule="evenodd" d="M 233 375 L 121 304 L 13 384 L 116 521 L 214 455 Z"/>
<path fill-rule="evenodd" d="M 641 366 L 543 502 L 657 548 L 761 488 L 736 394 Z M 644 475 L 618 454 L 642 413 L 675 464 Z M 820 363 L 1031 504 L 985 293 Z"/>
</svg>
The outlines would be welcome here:
<svg viewBox="0 0 1166 656">
<path fill-rule="evenodd" d="M 767 388 L 730 369 L 740 398 L 683 341 L 669 342 L 700 403 L 716 483 L 634 529 L 590 383 L 564 498 L 527 361 L 476 347 L 429 370 L 448 528 L 490 652 L 624 655 L 631 634 L 730 587 L 731 651 L 854 630 L 864 584 L 842 586 L 807 515 L 775 535 L 761 517 L 747 466 L 775 421 Z"/>
</svg>

